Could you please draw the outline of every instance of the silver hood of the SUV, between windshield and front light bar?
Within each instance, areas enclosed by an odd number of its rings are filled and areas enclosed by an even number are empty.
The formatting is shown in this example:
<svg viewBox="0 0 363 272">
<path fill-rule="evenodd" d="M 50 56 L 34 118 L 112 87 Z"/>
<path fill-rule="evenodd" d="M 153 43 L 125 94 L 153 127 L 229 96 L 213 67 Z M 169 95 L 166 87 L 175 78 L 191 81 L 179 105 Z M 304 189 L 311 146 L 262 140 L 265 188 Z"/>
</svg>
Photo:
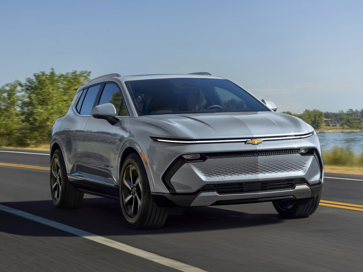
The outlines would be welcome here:
<svg viewBox="0 0 363 272">
<path fill-rule="evenodd" d="M 138 119 L 167 128 L 181 139 L 282 136 L 313 131 L 299 118 L 270 111 L 148 115 Z"/>
</svg>

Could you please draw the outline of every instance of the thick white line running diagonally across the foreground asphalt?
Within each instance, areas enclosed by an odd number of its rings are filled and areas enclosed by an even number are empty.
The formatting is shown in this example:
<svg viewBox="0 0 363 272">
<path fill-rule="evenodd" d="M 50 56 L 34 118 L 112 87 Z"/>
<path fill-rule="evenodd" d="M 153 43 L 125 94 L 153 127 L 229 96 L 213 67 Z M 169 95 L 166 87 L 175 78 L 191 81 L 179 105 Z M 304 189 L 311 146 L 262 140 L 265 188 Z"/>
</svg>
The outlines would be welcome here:
<svg viewBox="0 0 363 272">
<path fill-rule="evenodd" d="M 53 228 L 57 228 L 58 230 L 62 230 L 62 231 L 80 236 L 82 238 L 103 244 L 105 246 L 115 248 L 117 250 L 121 250 L 123 252 L 129 253 L 129 254 L 132 254 L 132 255 L 135 255 L 138 257 L 142 257 L 142 258 L 150 260 L 150 261 L 154 261 L 155 263 L 159 263 L 159 264 L 165 265 L 167 267 L 177 269 L 179 271 L 206 272 L 197 267 L 193 267 L 191 265 L 181 263 L 180 261 L 168 259 L 167 257 L 163 257 L 158 254 L 154 254 L 152 252 L 148 252 L 148 251 L 136 248 L 136 247 L 129 246 L 127 244 L 123 244 L 123 243 L 120 243 L 120 242 L 117 242 L 117 241 L 114 241 L 114 240 L 111 240 L 111 239 L 108 239 L 108 238 L 105 238 L 102 236 L 98 236 L 91 232 L 83 231 L 78 228 L 74 228 L 74 227 L 71 227 L 71 226 L 68 226 L 68 225 L 65 225 L 62 223 L 58 223 L 58 222 L 55 222 L 55 221 L 52 221 L 52 220 L 49 220 L 49 219 L 46 219 L 43 217 L 39 217 L 34 214 L 29 214 L 29 213 L 26 213 L 25 211 L 20 211 L 20 210 L 13 209 L 11 207 L 7 207 L 7 206 L 3 206 L 3 205 L 0 205 L 0 210 L 3 210 L 7 213 L 18 215 L 20 217 L 23 217 L 23 218 L 26 218 L 26 219 L 29 219 L 29 220 L 53 227 Z"/>
</svg>

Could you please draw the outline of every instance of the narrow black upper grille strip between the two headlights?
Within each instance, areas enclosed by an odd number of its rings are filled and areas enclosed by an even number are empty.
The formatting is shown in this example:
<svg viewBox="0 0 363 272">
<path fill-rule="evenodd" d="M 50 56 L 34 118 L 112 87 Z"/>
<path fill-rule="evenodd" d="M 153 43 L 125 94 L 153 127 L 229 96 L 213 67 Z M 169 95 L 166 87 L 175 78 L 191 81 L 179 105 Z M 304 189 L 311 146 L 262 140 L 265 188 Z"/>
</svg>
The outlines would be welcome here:
<svg viewBox="0 0 363 272">
<path fill-rule="evenodd" d="M 204 153 L 204 155 L 207 158 L 237 158 L 237 157 L 275 156 L 275 155 L 288 155 L 288 154 L 299 154 L 299 149 L 291 148 L 291 149 L 276 149 L 276 150 Z"/>
</svg>

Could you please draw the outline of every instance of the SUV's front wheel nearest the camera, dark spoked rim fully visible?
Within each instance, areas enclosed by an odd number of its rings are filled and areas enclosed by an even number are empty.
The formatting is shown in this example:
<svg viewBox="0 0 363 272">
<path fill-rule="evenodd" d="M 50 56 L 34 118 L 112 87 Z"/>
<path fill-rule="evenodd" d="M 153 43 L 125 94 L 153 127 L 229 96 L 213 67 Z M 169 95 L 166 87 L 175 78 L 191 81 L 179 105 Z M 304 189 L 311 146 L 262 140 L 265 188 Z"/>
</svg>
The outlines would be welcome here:
<svg viewBox="0 0 363 272">
<path fill-rule="evenodd" d="M 164 225 L 168 214 L 152 199 L 146 170 L 135 153 L 123 163 L 119 188 L 122 214 L 131 228 L 150 229 Z"/>
</svg>

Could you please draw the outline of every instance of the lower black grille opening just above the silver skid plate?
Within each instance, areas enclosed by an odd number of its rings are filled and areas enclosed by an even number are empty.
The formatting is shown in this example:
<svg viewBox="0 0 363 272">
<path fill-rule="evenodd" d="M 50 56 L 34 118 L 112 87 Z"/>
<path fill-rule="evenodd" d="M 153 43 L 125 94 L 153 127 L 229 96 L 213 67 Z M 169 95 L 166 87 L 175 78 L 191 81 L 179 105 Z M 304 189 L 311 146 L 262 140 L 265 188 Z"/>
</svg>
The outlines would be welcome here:
<svg viewBox="0 0 363 272">
<path fill-rule="evenodd" d="M 298 184 L 306 184 L 306 182 L 302 179 L 294 179 L 262 182 L 208 184 L 201 187 L 199 191 L 216 191 L 218 194 L 249 193 L 256 191 L 276 191 L 293 189 Z"/>
</svg>

